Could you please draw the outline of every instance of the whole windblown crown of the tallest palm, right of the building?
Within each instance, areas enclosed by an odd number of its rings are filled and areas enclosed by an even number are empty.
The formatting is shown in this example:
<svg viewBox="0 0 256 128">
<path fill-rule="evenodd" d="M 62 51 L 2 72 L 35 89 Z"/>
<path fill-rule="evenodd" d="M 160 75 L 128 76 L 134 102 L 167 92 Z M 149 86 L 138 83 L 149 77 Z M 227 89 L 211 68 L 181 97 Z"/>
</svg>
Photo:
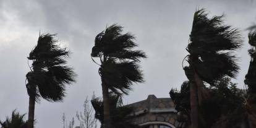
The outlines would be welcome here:
<svg viewBox="0 0 256 128">
<path fill-rule="evenodd" d="M 223 25 L 223 15 L 209 19 L 204 9 L 195 12 L 187 51 L 203 81 L 213 84 L 225 76 L 236 77 L 239 66 L 233 53 L 241 46 L 241 33 Z"/>
</svg>

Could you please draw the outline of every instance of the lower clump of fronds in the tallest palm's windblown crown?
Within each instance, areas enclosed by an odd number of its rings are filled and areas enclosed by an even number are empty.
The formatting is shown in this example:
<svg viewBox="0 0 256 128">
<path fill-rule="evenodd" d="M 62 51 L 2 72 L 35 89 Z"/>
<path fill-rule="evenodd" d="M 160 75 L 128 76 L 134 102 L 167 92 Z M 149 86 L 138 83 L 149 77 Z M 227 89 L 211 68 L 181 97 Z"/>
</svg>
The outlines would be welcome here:
<svg viewBox="0 0 256 128">
<path fill-rule="evenodd" d="M 225 76 L 236 77 L 239 67 L 236 56 L 231 53 L 205 54 L 201 59 L 193 61 L 197 74 L 205 82 L 215 82 Z"/>
</svg>

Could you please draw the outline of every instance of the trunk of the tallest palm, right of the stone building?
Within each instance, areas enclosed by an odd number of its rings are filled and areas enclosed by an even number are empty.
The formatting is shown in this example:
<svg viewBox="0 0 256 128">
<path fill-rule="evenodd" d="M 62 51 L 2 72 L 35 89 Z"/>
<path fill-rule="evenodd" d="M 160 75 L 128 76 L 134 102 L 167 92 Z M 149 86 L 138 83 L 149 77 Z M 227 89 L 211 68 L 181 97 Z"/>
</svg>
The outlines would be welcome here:
<svg viewBox="0 0 256 128">
<path fill-rule="evenodd" d="M 194 81 L 189 82 L 190 88 L 190 128 L 198 128 L 198 96 Z"/>
</svg>

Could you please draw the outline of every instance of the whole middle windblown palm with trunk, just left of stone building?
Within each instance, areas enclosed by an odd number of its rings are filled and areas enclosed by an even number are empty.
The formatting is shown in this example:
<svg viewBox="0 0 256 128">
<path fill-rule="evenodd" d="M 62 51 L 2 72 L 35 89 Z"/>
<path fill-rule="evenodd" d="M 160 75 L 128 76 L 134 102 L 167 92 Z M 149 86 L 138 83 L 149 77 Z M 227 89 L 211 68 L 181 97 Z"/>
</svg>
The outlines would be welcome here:
<svg viewBox="0 0 256 128">
<path fill-rule="evenodd" d="M 111 127 L 109 90 L 117 95 L 127 94 L 133 82 L 143 82 L 142 71 L 137 63 L 146 55 L 140 50 L 132 50 L 137 46 L 133 35 L 121 32 L 122 27 L 119 25 L 107 27 L 96 36 L 92 48 L 91 56 L 100 58 L 101 62 L 98 72 L 101 76 L 105 128 Z"/>
</svg>

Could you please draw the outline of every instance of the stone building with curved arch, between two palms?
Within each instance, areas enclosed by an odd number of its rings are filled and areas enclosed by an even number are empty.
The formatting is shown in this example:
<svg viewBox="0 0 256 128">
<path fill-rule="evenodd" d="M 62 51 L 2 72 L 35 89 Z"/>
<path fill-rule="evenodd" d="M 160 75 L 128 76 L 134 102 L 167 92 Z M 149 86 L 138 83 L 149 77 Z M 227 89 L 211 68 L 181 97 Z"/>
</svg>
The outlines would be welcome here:
<svg viewBox="0 0 256 128">
<path fill-rule="evenodd" d="M 148 95 L 147 100 L 132 103 L 134 116 L 132 122 L 143 128 L 176 128 L 179 122 L 177 111 L 171 98 L 156 98 L 155 95 Z"/>
</svg>

